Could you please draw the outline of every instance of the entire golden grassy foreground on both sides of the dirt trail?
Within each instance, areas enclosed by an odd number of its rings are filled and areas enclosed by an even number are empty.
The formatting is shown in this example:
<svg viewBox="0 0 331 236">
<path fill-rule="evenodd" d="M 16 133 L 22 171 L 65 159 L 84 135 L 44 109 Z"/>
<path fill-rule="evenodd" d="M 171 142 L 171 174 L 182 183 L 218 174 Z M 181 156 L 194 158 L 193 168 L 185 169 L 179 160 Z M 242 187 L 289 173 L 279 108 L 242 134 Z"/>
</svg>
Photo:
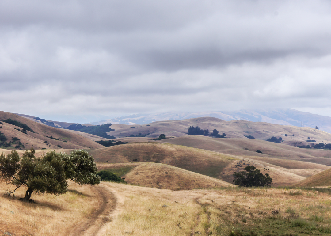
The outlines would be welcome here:
<svg viewBox="0 0 331 236">
<path fill-rule="evenodd" d="M 233 188 L 171 191 L 103 182 L 117 204 L 98 235 L 330 235 L 330 188 Z M 66 194 L 9 200 L 0 183 L 0 234 L 68 235 L 100 206 L 93 186 Z M 7 187 L 7 188 L 6 188 Z M 17 196 L 24 195 L 24 189 Z M 96 232 L 97 232 L 96 231 Z"/>
</svg>

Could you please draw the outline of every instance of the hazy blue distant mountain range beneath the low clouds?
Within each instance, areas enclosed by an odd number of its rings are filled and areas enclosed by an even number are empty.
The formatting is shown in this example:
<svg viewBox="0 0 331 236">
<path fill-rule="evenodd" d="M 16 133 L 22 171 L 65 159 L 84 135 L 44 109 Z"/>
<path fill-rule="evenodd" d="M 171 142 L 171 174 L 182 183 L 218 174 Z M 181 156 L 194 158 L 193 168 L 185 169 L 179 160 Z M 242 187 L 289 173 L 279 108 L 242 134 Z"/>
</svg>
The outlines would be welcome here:
<svg viewBox="0 0 331 236">
<path fill-rule="evenodd" d="M 117 117 L 104 119 L 98 122 L 90 122 L 87 124 L 148 124 L 161 120 L 181 120 L 198 117 L 215 117 L 229 120 L 248 120 L 262 121 L 272 124 L 294 125 L 294 126 L 317 126 L 320 130 L 331 133 L 331 117 L 320 116 L 308 112 L 301 112 L 294 109 L 275 109 L 275 110 L 239 110 L 232 112 L 199 112 L 199 113 L 155 113 L 155 114 L 135 114 L 125 117 Z"/>
</svg>

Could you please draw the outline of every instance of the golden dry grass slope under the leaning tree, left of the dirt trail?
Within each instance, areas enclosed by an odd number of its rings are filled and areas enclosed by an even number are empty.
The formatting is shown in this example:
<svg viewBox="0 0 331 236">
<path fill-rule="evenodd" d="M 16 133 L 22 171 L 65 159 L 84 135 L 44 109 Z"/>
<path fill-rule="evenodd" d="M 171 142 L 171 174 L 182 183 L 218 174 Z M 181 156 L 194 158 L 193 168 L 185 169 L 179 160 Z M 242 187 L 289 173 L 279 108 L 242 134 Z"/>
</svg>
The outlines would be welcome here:
<svg viewBox="0 0 331 236">
<path fill-rule="evenodd" d="M 36 204 L 18 200 L 25 194 L 22 187 L 16 191 L 16 199 L 5 197 L 8 188 L 14 186 L 0 182 L 0 234 L 8 231 L 12 235 L 66 235 L 100 204 L 91 186 L 73 182 L 69 182 L 69 191 L 58 197 L 32 193 Z"/>
</svg>

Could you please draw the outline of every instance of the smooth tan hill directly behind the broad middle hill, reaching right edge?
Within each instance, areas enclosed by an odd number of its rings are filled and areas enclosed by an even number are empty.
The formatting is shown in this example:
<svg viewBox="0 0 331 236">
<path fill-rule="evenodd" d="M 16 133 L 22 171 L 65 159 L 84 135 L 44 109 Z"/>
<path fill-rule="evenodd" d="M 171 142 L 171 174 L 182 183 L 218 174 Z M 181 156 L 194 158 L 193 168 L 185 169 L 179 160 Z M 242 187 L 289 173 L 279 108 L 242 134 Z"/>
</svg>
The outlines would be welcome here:
<svg viewBox="0 0 331 236">
<path fill-rule="evenodd" d="M 160 140 L 160 142 L 200 148 L 235 156 L 274 157 L 331 165 L 331 150 L 297 148 L 283 143 L 272 143 L 257 139 L 225 139 L 200 135 L 186 135 L 183 137 Z M 262 151 L 263 154 L 256 153 L 257 150 Z M 295 168 L 295 166 L 292 168 Z"/>
</svg>

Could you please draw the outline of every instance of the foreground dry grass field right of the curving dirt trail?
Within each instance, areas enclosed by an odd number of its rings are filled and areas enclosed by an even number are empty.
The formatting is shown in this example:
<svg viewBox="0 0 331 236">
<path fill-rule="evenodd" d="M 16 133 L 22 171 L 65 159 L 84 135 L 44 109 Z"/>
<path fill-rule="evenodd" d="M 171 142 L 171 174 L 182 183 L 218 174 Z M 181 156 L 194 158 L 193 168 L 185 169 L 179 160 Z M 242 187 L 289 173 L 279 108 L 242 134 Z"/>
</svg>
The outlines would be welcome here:
<svg viewBox="0 0 331 236">
<path fill-rule="evenodd" d="M 118 217 L 107 223 L 107 236 L 127 235 L 133 228 L 137 236 L 331 232 L 331 196 L 314 190 L 230 187 L 173 192 L 105 184 L 124 202 Z"/>
</svg>

